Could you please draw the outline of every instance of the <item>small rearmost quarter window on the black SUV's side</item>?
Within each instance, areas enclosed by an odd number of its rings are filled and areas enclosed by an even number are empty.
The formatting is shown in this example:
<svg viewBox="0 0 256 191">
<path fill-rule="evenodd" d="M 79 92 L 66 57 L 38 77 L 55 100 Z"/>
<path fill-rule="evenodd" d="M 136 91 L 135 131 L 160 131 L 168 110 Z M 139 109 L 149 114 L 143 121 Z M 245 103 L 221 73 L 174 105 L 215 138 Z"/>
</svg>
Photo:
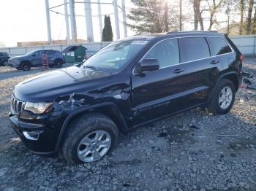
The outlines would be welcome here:
<svg viewBox="0 0 256 191">
<path fill-rule="evenodd" d="M 230 46 L 220 37 L 208 37 L 208 40 L 213 49 L 213 55 L 223 55 L 232 52 Z"/>
</svg>

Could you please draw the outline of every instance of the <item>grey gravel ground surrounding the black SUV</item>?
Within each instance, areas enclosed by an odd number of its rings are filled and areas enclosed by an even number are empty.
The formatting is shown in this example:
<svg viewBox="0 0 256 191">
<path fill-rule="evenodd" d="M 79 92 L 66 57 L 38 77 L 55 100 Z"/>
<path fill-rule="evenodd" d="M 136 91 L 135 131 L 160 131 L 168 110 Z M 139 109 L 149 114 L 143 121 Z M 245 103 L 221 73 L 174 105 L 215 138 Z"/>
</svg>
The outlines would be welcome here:
<svg viewBox="0 0 256 191">
<path fill-rule="evenodd" d="M 256 76 L 255 63 L 244 71 Z M 43 72 L 0 67 L 0 190 L 256 190 L 256 90 L 241 88 L 226 115 L 193 109 L 121 136 L 98 162 L 69 165 L 28 152 L 7 117 L 12 88 Z"/>
</svg>

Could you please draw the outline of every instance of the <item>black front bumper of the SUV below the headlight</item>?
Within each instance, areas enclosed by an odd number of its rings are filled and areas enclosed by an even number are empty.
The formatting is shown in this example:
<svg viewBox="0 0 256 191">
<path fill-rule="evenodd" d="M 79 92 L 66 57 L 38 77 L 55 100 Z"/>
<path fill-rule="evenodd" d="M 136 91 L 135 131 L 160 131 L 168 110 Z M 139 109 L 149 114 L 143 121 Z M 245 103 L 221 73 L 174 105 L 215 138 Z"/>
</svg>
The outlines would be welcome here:
<svg viewBox="0 0 256 191">
<path fill-rule="evenodd" d="M 62 121 L 61 116 L 54 117 L 51 114 L 32 114 L 22 111 L 15 115 L 10 112 L 12 128 L 23 144 L 31 152 L 48 157 L 56 157 L 58 154 L 56 144 L 63 125 Z"/>
</svg>

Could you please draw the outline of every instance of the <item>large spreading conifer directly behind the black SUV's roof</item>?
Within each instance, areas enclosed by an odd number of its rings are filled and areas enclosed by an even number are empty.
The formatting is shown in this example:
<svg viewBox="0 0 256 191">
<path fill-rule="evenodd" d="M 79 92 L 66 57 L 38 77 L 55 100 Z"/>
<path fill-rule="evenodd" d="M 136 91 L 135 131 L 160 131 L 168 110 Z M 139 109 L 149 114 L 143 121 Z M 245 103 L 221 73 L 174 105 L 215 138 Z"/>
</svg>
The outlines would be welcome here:
<svg viewBox="0 0 256 191">
<path fill-rule="evenodd" d="M 162 33 L 169 28 L 178 29 L 178 6 L 162 0 L 131 0 L 135 5 L 127 17 L 132 20 L 128 26 L 138 34 Z"/>
</svg>

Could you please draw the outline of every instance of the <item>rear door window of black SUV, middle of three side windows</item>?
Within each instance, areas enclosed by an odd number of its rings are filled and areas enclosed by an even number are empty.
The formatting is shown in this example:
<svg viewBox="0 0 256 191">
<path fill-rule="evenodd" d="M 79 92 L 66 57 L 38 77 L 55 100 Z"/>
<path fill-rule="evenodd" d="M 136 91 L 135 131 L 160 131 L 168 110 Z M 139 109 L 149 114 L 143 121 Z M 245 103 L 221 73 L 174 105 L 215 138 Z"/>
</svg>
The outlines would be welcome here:
<svg viewBox="0 0 256 191">
<path fill-rule="evenodd" d="M 186 61 L 195 61 L 210 57 L 208 43 L 204 37 L 181 38 L 179 39 L 179 42 L 181 43 L 183 50 L 187 52 Z"/>
</svg>

